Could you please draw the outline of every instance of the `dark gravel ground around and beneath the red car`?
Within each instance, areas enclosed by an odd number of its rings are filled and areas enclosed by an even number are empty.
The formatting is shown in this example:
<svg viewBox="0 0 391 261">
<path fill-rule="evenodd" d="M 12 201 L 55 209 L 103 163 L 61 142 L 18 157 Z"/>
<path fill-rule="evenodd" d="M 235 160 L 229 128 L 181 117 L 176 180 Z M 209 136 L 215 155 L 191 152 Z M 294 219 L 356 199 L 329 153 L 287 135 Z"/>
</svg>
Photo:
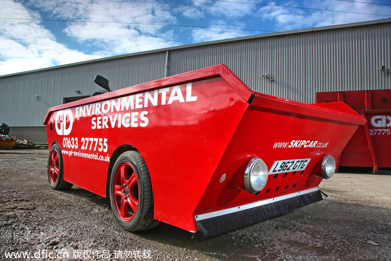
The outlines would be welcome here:
<svg viewBox="0 0 391 261">
<path fill-rule="evenodd" d="M 321 202 L 202 239 L 164 223 L 124 231 L 109 199 L 51 190 L 46 164 L 46 150 L 0 151 L 0 260 L 391 260 L 386 170 L 337 173 L 322 182 Z"/>
</svg>

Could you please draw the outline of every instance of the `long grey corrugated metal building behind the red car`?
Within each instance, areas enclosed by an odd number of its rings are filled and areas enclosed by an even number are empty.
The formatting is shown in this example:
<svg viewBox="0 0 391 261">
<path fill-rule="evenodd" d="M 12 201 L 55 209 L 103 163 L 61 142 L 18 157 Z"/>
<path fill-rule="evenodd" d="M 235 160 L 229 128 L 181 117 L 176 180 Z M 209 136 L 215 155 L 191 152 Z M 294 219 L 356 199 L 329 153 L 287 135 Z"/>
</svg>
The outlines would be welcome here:
<svg viewBox="0 0 391 261">
<path fill-rule="evenodd" d="M 305 103 L 316 92 L 391 88 L 391 19 L 164 48 L 0 76 L 0 122 L 18 139 L 45 142 L 49 107 L 100 90 L 226 64 L 252 90 Z M 380 66 L 385 69 L 380 70 Z M 269 74 L 269 79 L 262 75 Z M 273 81 L 270 81 L 270 79 Z"/>
</svg>

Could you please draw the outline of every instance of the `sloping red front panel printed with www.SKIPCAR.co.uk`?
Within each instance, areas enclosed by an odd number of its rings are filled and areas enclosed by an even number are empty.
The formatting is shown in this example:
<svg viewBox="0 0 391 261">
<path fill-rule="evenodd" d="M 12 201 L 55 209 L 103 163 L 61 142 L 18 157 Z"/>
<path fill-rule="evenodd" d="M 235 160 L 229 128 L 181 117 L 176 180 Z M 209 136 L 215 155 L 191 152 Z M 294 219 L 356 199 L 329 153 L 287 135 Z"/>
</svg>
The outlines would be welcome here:
<svg viewBox="0 0 391 261">
<path fill-rule="evenodd" d="M 317 108 L 308 107 L 308 114 L 298 114 L 295 113 L 298 108 L 288 107 L 301 107 L 300 104 L 287 103 L 272 110 L 260 107 L 264 104 L 262 101 L 264 99 L 257 96 L 246 111 L 195 214 L 318 187 L 323 178 L 312 174 L 316 171 L 314 168 L 326 154 L 337 157 L 356 129 L 334 119 L 310 116 L 310 111 Z M 335 135 L 336 131 L 341 134 Z M 280 160 L 311 160 L 303 171 L 286 170 L 269 175 L 265 189 L 254 195 L 239 186 L 246 164 L 253 157 L 260 157 L 269 170 Z M 220 184 L 223 174 L 228 181 Z"/>
</svg>

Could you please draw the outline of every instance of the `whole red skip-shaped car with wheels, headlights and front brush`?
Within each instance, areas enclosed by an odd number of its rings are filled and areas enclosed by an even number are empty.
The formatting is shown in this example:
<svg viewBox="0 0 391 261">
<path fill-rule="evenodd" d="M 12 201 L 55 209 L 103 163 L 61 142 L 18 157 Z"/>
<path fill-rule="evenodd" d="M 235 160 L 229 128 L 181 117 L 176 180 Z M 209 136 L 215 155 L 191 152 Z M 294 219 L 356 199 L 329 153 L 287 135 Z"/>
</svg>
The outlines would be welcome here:
<svg viewBox="0 0 391 261">
<path fill-rule="evenodd" d="M 109 197 L 126 230 L 212 236 L 320 201 L 365 122 L 343 102 L 253 92 L 217 65 L 50 108 L 48 179 Z"/>
</svg>

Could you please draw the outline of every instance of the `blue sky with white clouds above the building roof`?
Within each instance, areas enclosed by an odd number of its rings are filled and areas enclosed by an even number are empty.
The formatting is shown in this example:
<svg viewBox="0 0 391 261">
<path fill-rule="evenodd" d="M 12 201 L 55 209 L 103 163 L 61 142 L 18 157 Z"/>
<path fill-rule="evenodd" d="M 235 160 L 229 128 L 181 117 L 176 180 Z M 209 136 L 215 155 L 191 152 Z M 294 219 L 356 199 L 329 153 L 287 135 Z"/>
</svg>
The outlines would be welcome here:
<svg viewBox="0 0 391 261">
<path fill-rule="evenodd" d="M 391 18 L 391 0 L 357 1 L 0 0 L 0 75 L 165 47 Z"/>
</svg>

